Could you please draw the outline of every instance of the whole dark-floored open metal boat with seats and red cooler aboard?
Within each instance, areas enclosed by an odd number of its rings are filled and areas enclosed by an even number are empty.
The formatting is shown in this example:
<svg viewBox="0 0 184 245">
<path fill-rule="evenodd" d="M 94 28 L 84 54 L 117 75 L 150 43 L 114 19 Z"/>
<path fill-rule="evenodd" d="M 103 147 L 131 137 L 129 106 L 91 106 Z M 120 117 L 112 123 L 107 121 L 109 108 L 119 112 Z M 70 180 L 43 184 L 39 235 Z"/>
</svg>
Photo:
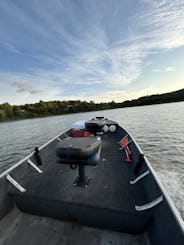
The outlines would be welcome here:
<svg viewBox="0 0 184 245">
<path fill-rule="evenodd" d="M 74 123 L 0 175 L 0 244 L 184 244 L 184 223 L 118 123 Z"/>
</svg>

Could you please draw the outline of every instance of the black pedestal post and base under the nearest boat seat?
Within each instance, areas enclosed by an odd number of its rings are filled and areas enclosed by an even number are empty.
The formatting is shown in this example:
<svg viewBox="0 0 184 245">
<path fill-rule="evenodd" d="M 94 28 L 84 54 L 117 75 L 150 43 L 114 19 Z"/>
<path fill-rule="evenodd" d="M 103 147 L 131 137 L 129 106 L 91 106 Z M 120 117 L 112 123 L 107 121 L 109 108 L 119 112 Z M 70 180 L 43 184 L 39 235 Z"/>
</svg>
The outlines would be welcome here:
<svg viewBox="0 0 184 245">
<path fill-rule="evenodd" d="M 79 175 L 77 176 L 75 182 L 73 183 L 74 186 L 76 187 L 85 187 L 87 188 L 89 185 L 90 177 L 85 176 L 85 165 L 78 165 L 78 173 Z"/>
</svg>

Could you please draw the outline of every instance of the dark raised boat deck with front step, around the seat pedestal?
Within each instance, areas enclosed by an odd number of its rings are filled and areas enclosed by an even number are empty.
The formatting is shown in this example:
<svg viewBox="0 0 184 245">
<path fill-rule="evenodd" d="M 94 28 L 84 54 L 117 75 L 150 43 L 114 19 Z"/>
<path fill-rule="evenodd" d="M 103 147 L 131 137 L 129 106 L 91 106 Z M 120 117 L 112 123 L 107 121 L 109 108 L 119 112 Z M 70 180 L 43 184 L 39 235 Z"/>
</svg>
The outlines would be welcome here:
<svg viewBox="0 0 184 245">
<path fill-rule="evenodd" d="M 12 187 L 20 210 L 57 220 L 74 221 L 114 231 L 143 233 L 150 214 L 138 212 L 135 205 L 146 203 L 141 183 L 130 185 L 132 166 L 125 163 L 118 141 L 123 132 L 102 136 L 101 162 L 86 167 L 90 176 L 88 188 L 74 187 L 77 170 L 56 162 L 55 149 L 45 160 L 44 172 L 32 174 L 25 180 L 25 193 Z M 134 147 L 134 146 L 132 146 Z"/>
</svg>

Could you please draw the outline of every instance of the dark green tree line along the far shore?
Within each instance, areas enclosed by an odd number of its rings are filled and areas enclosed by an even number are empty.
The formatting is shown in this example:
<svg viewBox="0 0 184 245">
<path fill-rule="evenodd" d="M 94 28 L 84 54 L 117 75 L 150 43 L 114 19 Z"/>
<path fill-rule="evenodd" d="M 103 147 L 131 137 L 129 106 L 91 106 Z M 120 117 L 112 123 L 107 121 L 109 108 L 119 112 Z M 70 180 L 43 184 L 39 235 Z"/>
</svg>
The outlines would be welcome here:
<svg viewBox="0 0 184 245">
<path fill-rule="evenodd" d="M 89 112 L 107 109 L 116 109 L 132 106 L 143 106 L 170 102 L 184 101 L 184 89 L 165 94 L 143 96 L 134 100 L 124 102 L 95 103 L 94 101 L 39 101 L 34 104 L 10 105 L 0 104 L 0 121 L 36 118 L 54 115 L 63 115 L 77 112 Z"/>
</svg>

